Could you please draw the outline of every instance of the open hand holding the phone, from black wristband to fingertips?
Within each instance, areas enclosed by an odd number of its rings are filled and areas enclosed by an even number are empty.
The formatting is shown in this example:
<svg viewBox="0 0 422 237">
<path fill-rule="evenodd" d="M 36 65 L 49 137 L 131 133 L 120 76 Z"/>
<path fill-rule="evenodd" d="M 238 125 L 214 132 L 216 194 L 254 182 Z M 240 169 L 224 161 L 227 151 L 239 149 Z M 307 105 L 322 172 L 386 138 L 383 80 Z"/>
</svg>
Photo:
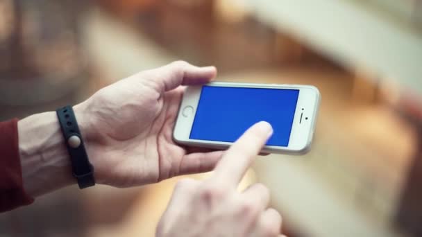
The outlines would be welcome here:
<svg viewBox="0 0 422 237">
<path fill-rule="evenodd" d="M 192 152 L 174 143 L 172 133 L 180 86 L 207 83 L 216 73 L 214 67 L 173 62 L 120 80 L 76 105 L 96 182 L 126 187 L 212 170 L 222 152 Z"/>
</svg>

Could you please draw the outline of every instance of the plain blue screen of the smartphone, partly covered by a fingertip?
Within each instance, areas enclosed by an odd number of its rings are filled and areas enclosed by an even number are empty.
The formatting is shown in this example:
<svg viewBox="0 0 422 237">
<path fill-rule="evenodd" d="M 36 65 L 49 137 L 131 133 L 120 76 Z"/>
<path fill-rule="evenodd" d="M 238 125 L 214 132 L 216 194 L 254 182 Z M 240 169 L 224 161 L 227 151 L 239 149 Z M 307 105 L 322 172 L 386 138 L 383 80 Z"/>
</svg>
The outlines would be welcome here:
<svg viewBox="0 0 422 237">
<path fill-rule="evenodd" d="M 299 90 L 203 86 L 189 139 L 233 142 L 259 121 L 273 127 L 269 146 L 288 146 Z"/>
</svg>

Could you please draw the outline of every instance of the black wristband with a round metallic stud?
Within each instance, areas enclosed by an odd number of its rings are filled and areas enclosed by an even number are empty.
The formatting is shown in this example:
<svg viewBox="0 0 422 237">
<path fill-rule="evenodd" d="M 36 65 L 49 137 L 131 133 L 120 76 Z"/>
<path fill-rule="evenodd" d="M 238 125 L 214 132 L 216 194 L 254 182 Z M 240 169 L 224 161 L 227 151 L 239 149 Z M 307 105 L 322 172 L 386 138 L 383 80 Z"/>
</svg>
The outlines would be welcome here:
<svg viewBox="0 0 422 237">
<path fill-rule="evenodd" d="M 56 113 L 70 155 L 73 175 L 78 181 L 79 188 L 94 186 L 94 168 L 83 145 L 74 110 L 71 106 L 66 106 L 57 109 Z"/>
</svg>

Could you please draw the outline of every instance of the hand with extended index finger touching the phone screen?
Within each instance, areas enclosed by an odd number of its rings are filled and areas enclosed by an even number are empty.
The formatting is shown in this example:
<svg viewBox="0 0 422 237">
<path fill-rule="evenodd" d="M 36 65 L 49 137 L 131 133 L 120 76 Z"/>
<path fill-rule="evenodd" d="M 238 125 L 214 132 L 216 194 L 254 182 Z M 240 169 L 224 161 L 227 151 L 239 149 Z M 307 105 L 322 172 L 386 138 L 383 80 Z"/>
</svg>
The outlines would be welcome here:
<svg viewBox="0 0 422 237">
<path fill-rule="evenodd" d="M 280 236 L 281 216 L 267 209 L 268 189 L 262 184 L 243 193 L 236 189 L 271 134 L 268 123 L 253 125 L 223 155 L 212 177 L 180 180 L 157 236 Z"/>
</svg>

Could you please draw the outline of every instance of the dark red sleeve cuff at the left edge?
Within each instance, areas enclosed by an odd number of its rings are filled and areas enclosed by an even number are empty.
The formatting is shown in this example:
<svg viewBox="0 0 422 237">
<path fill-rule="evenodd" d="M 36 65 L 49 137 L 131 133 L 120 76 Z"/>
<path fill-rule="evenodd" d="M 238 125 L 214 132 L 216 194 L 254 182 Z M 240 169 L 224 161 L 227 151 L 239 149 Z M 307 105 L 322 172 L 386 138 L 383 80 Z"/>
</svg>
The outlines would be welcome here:
<svg viewBox="0 0 422 237">
<path fill-rule="evenodd" d="M 0 123 L 0 212 L 33 202 L 24 191 L 17 119 Z"/>
</svg>

